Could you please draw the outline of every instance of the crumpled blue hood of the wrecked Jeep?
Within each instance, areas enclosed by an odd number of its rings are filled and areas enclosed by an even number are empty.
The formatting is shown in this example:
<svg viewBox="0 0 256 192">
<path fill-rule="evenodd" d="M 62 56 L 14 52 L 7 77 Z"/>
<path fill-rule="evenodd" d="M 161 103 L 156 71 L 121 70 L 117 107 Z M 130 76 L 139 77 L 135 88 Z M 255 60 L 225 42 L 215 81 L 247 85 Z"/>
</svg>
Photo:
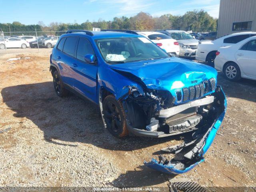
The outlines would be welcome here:
<svg viewBox="0 0 256 192">
<path fill-rule="evenodd" d="M 217 71 L 210 66 L 176 57 L 116 64 L 110 68 L 130 72 L 149 89 L 170 92 L 217 77 Z"/>
</svg>

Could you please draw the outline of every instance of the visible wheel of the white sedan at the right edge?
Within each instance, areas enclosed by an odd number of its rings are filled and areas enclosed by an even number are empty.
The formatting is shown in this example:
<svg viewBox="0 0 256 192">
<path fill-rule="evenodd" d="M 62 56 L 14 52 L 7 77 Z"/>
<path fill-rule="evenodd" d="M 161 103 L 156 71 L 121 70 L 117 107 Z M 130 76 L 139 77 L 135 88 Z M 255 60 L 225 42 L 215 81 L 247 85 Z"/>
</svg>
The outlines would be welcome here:
<svg viewBox="0 0 256 192">
<path fill-rule="evenodd" d="M 230 81 L 238 81 L 241 79 L 241 72 L 239 66 L 234 63 L 230 62 L 224 67 L 224 75 L 226 79 Z"/>
</svg>

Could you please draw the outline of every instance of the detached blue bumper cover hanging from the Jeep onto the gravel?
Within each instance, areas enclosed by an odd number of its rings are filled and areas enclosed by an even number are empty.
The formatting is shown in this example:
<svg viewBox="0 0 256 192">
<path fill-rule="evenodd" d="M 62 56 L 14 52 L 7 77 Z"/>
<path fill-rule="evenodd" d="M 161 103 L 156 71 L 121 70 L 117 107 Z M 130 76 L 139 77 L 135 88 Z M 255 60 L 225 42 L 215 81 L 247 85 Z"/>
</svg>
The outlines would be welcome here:
<svg viewBox="0 0 256 192">
<path fill-rule="evenodd" d="M 182 150 L 185 151 L 182 154 L 184 154 L 184 158 L 188 158 L 189 161 L 187 161 L 186 164 L 180 163 L 178 160 L 175 160 L 175 162 L 164 163 L 163 161 L 158 162 L 156 159 L 152 159 L 151 162 L 144 162 L 144 164 L 154 170 L 158 170 L 160 172 L 164 172 L 167 174 L 182 174 L 186 173 L 192 168 L 194 168 L 196 165 L 204 161 L 204 154 L 212 144 L 214 137 L 216 136 L 216 132 L 218 131 L 220 124 L 222 123 L 222 120 L 226 113 L 226 97 L 224 95 L 224 92 L 221 88 L 221 86 L 217 86 L 218 91 L 216 91 L 216 97 L 218 97 L 218 102 L 220 102 L 221 110 L 218 113 L 217 118 L 212 123 L 212 126 L 208 128 L 208 130 L 202 131 L 203 133 L 200 135 L 200 133 L 197 133 L 197 138 L 195 140 L 192 140 L 190 142 L 184 142 L 183 144 L 180 144 L 176 147 L 169 148 L 169 152 L 176 152 L 178 154 L 179 152 L 182 153 Z M 180 166 L 182 164 L 182 166 Z"/>
</svg>

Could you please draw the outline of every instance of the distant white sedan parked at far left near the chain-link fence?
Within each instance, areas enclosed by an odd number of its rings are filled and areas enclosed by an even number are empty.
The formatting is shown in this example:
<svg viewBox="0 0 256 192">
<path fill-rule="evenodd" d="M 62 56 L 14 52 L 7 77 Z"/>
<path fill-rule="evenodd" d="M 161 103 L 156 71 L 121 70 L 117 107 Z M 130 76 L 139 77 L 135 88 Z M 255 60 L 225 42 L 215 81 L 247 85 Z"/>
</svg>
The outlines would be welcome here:
<svg viewBox="0 0 256 192">
<path fill-rule="evenodd" d="M 4 44 L 5 44 L 6 48 L 23 48 L 23 49 L 25 49 L 25 48 L 29 47 L 29 43 L 26 40 L 20 39 L 20 38 L 14 38 L 14 37 L 6 39 L 5 42 L 0 41 L 0 49 L 5 48 Z"/>
</svg>

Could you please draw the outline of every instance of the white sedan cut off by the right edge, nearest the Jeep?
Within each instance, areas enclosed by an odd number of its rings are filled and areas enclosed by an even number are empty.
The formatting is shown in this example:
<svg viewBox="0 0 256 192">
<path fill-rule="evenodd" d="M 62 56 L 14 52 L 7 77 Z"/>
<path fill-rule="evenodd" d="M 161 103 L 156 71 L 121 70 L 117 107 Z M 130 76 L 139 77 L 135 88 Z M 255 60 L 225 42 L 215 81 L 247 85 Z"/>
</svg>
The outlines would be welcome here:
<svg viewBox="0 0 256 192">
<path fill-rule="evenodd" d="M 256 36 L 219 48 L 214 63 L 228 80 L 256 80 Z"/>
</svg>

